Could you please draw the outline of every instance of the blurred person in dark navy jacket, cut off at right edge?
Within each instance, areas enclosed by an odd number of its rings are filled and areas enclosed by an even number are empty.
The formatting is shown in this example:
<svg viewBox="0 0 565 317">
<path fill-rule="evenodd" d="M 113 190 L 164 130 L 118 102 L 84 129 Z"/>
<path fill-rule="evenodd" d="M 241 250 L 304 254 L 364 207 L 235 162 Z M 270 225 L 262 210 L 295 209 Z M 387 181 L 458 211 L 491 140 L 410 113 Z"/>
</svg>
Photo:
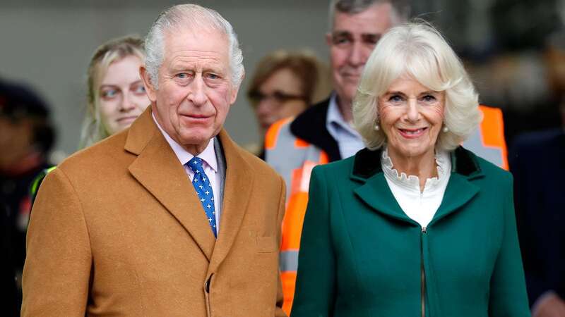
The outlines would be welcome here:
<svg viewBox="0 0 565 317">
<path fill-rule="evenodd" d="M 518 135 L 510 155 L 518 234 L 534 317 L 565 316 L 565 34 L 545 49 L 561 126 Z"/>
</svg>

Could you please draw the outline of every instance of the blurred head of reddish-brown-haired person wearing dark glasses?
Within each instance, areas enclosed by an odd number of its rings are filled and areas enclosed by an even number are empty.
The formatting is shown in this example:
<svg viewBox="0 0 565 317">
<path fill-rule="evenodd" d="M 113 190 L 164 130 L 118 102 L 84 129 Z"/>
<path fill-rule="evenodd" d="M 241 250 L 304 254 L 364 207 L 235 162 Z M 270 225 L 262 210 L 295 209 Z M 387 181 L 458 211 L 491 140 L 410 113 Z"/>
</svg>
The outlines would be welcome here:
<svg viewBox="0 0 565 317">
<path fill-rule="evenodd" d="M 275 121 L 295 117 L 328 95 L 326 77 L 326 67 L 309 51 L 281 49 L 259 61 L 247 98 L 257 117 L 261 144 Z M 255 151 L 265 158 L 262 146 Z"/>
</svg>

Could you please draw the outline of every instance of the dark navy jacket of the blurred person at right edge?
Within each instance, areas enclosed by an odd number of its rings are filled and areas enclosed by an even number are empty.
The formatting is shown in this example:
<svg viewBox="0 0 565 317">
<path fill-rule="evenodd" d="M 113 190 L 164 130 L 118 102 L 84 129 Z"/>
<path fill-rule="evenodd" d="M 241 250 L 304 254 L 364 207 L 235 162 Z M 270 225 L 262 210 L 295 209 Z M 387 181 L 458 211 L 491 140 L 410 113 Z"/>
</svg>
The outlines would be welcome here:
<svg viewBox="0 0 565 317">
<path fill-rule="evenodd" d="M 530 304 L 552 290 L 565 299 L 565 132 L 516 138 L 509 156 Z"/>
</svg>

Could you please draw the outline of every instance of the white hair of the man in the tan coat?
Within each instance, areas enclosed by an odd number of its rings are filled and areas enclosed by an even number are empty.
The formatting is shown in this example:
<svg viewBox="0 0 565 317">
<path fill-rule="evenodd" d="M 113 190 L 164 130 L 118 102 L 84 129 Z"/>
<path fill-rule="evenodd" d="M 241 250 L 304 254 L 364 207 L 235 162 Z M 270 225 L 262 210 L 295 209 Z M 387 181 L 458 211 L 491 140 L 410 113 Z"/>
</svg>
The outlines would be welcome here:
<svg viewBox="0 0 565 317">
<path fill-rule="evenodd" d="M 159 86 L 159 68 L 165 57 L 165 33 L 178 30 L 179 27 L 188 27 L 189 29 L 208 27 L 226 35 L 230 54 L 232 85 L 238 87 L 241 84 L 245 71 L 243 54 L 232 25 L 220 13 L 210 8 L 204 8 L 197 4 L 179 4 L 162 11 L 151 26 L 147 37 L 145 37 L 145 51 L 147 52 L 145 68 L 156 89 Z"/>
</svg>

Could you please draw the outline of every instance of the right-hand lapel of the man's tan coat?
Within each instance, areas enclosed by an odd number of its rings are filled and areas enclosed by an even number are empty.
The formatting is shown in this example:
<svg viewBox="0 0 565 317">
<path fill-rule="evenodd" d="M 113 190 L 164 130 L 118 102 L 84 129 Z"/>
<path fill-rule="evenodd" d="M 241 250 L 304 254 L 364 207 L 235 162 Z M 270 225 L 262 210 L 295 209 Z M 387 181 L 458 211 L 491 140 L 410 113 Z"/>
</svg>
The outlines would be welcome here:
<svg viewBox="0 0 565 317">
<path fill-rule="evenodd" d="M 248 208 L 254 180 L 251 166 L 241 156 L 242 150 L 238 149 L 227 132 L 220 131 L 218 137 L 224 149 L 226 175 L 220 232 L 208 271 L 215 271 L 230 251 Z"/>
</svg>

